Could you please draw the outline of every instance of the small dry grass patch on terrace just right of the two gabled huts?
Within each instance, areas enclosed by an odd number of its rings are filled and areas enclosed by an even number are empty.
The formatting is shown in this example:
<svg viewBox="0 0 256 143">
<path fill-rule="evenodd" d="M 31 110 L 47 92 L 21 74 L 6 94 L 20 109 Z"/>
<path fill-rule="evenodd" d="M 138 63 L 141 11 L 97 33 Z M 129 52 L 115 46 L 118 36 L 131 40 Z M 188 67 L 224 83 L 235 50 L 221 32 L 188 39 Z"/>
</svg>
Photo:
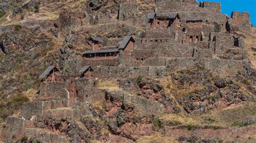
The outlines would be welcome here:
<svg viewBox="0 0 256 143">
<path fill-rule="evenodd" d="M 99 89 L 120 89 L 119 82 L 115 80 L 106 80 L 101 79 L 99 80 Z"/>
</svg>

